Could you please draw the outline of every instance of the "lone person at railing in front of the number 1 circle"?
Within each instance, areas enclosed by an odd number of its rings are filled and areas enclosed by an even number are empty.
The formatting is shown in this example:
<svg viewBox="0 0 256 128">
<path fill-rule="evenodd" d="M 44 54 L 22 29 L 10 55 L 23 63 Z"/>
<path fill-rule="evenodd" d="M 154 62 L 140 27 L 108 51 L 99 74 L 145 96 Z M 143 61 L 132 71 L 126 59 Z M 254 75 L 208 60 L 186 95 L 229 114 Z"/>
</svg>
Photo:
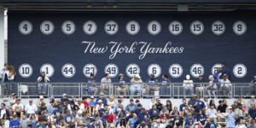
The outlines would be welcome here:
<svg viewBox="0 0 256 128">
<path fill-rule="evenodd" d="M 47 89 L 47 86 L 48 86 L 47 83 L 49 83 L 49 78 L 45 76 L 45 72 L 44 71 L 40 72 L 40 76 L 38 77 L 37 83 L 39 83 L 38 84 L 38 95 L 46 94 L 46 89 Z M 40 84 L 40 83 L 42 83 L 42 84 Z"/>
</svg>

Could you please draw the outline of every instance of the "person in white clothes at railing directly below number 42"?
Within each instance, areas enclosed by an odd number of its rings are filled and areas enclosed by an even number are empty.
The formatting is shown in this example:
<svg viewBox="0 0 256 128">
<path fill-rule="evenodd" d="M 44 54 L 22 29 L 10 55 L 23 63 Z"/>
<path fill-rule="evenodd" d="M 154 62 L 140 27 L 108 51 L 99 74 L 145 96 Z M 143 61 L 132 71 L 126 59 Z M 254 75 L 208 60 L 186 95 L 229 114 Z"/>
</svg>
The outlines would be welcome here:
<svg viewBox="0 0 256 128">
<path fill-rule="evenodd" d="M 141 85 L 143 84 L 143 80 L 141 79 L 139 74 L 136 74 L 132 76 L 132 79 L 130 81 L 132 84 L 130 86 L 131 96 L 134 96 L 135 91 L 139 92 L 141 94 Z"/>
</svg>

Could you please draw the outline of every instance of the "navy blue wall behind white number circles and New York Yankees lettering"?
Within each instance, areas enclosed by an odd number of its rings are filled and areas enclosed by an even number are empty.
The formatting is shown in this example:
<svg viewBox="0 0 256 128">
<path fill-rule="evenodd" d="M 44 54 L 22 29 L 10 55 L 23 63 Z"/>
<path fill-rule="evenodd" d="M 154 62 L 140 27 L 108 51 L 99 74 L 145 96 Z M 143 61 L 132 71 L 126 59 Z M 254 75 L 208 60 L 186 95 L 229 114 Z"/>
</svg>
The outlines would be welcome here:
<svg viewBox="0 0 256 128">
<path fill-rule="evenodd" d="M 28 35 L 19 31 L 19 24 L 22 20 L 29 20 L 33 30 Z M 50 20 L 55 25 L 55 30 L 49 35 L 40 31 L 40 25 L 44 20 Z M 65 20 L 72 20 L 76 30 L 72 35 L 66 35 L 61 31 L 61 25 Z M 84 22 L 93 20 L 96 22 L 97 31 L 93 35 L 87 35 L 83 31 Z M 108 35 L 104 26 L 108 20 L 114 20 L 119 25 L 119 31 L 114 35 Z M 140 25 L 140 31 L 136 35 L 126 32 L 125 26 L 130 20 L 136 20 Z M 147 26 L 151 20 L 157 20 L 161 25 L 161 32 L 151 35 Z M 168 26 L 172 20 L 178 20 L 183 25 L 183 32 L 179 35 L 172 35 Z M 200 20 L 204 25 L 204 32 L 195 35 L 190 32 L 189 26 L 194 20 Z M 225 25 L 225 32 L 222 35 L 212 33 L 211 26 L 216 20 L 221 20 Z M 236 35 L 232 26 L 236 20 L 242 20 L 247 25 L 247 32 L 243 35 Z M 154 14 L 154 13 L 20 13 L 9 12 L 8 20 L 8 62 L 14 65 L 19 82 L 34 82 L 38 78 L 40 67 L 49 63 L 55 68 L 54 75 L 50 78 L 53 82 L 84 82 L 86 77 L 83 73 L 84 65 L 92 63 L 97 67 L 96 80 L 100 81 L 104 76 L 104 68 L 113 63 L 119 67 L 119 73 L 125 73 L 125 68 L 136 63 L 140 67 L 140 75 L 143 81 L 148 79 L 148 66 L 156 63 L 161 67 L 161 73 L 168 74 L 172 82 L 182 82 L 186 74 L 190 74 L 190 67 L 200 63 L 204 67 L 204 79 L 212 74 L 212 66 L 216 63 L 225 62 L 231 72 L 233 67 L 241 63 L 247 67 L 247 74 L 244 78 L 236 78 L 231 73 L 232 82 L 250 82 L 256 75 L 256 15 L 254 12 L 215 12 L 215 13 L 190 13 L 190 14 Z M 95 41 L 97 47 L 108 46 L 104 54 L 84 53 L 87 44 L 83 41 Z M 170 47 L 183 47 L 183 53 L 177 54 L 147 54 L 142 60 L 140 49 L 142 44 L 135 46 L 134 54 L 122 53 L 109 59 L 109 42 L 122 42 L 121 46 L 131 46 L 133 42 L 152 43 L 152 47 L 164 48 L 167 42 L 172 42 Z M 28 63 L 33 68 L 29 78 L 22 78 L 19 74 L 19 67 Z M 65 78 L 61 73 L 61 67 L 66 63 L 72 63 L 76 67 L 73 78 Z M 168 72 L 173 63 L 183 67 L 183 75 L 179 78 L 172 78 Z M 118 77 L 112 79 L 116 81 Z M 130 80 L 125 75 L 126 80 Z M 196 79 L 196 78 L 192 78 Z M 160 79 L 159 79 L 160 80 Z"/>
</svg>

